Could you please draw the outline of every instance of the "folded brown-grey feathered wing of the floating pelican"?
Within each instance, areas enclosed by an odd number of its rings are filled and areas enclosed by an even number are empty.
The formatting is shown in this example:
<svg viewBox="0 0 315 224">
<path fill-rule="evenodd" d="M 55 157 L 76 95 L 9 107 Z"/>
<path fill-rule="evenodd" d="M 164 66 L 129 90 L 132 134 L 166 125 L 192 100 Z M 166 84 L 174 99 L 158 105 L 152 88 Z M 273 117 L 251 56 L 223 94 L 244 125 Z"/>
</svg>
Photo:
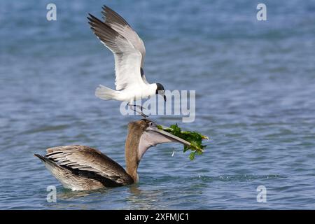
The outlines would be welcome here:
<svg viewBox="0 0 315 224">
<path fill-rule="evenodd" d="M 117 162 L 88 146 L 48 148 L 45 157 L 78 175 L 100 175 L 120 184 L 132 182 L 131 176 Z"/>
</svg>

